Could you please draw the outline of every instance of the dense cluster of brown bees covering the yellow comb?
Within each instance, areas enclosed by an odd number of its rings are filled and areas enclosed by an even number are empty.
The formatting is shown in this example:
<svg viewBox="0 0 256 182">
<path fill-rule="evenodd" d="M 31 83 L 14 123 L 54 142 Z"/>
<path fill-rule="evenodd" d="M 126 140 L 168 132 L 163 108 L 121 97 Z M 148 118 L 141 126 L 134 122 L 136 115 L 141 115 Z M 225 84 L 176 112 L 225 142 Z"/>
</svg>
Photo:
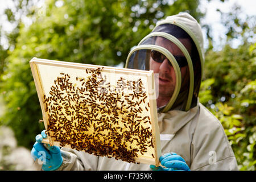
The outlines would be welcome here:
<svg viewBox="0 0 256 182">
<path fill-rule="evenodd" d="M 136 163 L 154 148 L 144 85 L 123 77 L 111 85 L 102 69 L 86 69 L 75 82 L 63 72 L 54 80 L 43 100 L 47 134 L 62 147 Z"/>
</svg>

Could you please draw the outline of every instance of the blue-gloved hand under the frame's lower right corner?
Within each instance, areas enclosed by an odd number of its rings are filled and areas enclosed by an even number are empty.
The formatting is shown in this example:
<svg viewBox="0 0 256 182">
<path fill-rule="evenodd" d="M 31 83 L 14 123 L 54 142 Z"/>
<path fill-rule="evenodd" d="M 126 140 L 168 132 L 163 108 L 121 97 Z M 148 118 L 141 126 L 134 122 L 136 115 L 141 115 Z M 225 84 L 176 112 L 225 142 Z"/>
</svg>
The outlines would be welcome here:
<svg viewBox="0 0 256 182">
<path fill-rule="evenodd" d="M 160 156 L 160 162 L 166 168 L 155 167 L 154 165 L 150 165 L 150 168 L 153 171 L 190 171 L 185 160 L 174 152 Z"/>
</svg>

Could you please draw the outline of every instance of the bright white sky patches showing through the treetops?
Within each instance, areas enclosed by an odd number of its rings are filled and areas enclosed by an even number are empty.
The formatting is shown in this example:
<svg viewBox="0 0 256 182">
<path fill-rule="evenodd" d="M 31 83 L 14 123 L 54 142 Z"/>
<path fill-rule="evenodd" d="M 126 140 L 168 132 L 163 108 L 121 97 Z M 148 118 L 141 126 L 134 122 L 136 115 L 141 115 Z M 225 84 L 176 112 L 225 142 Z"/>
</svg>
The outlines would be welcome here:
<svg viewBox="0 0 256 182">
<path fill-rule="evenodd" d="M 173 1 L 173 0 L 169 0 Z M 221 22 L 221 16 L 220 13 L 218 13 L 216 10 L 220 9 L 222 12 L 230 12 L 232 9 L 232 6 L 234 3 L 237 3 L 241 6 L 242 11 L 244 12 L 244 15 L 255 15 L 256 16 L 256 0 L 225 0 L 224 3 L 220 2 L 220 0 L 211 0 L 208 2 L 208 0 L 201 0 L 200 1 L 199 9 L 206 13 L 205 18 L 201 20 L 201 23 L 207 22 L 208 24 L 212 25 L 212 35 L 213 35 L 213 41 L 214 42 L 225 42 L 225 26 L 222 25 Z M 12 0 L 0 0 L 0 25 L 2 26 L 4 31 L 11 31 L 13 26 L 6 21 L 6 16 L 3 16 L 3 11 L 6 7 L 12 7 L 13 1 Z M 40 6 L 40 5 L 39 5 Z M 242 15 L 243 16 L 243 15 Z M 28 19 L 24 18 L 24 21 L 29 22 Z M 206 38 L 205 31 L 204 33 L 204 39 Z M 254 42 L 256 42 L 254 38 Z M 206 40 L 206 39 L 205 39 Z M 205 48 L 207 48 L 207 41 L 205 41 Z M 7 41 L 2 38 L 0 44 L 3 45 L 4 48 L 7 48 Z M 237 44 L 237 45 L 236 45 Z M 239 41 L 234 43 L 234 47 L 238 46 Z M 217 47 L 217 46 L 216 46 Z"/>
</svg>

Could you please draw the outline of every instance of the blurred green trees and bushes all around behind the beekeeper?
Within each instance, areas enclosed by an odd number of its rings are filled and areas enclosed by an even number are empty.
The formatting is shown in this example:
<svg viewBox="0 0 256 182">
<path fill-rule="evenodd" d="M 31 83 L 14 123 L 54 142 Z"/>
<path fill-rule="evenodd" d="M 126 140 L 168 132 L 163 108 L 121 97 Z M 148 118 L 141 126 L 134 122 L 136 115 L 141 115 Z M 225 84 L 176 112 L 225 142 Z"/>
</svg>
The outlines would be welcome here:
<svg viewBox="0 0 256 182">
<path fill-rule="evenodd" d="M 226 28 L 220 46 L 213 41 L 209 23 L 203 22 L 201 0 L 13 2 L 4 13 L 13 29 L 6 32 L 0 27 L 7 40 L 7 46 L 0 45 L 0 126 L 13 129 L 18 146 L 30 150 L 44 129 L 38 123 L 42 111 L 28 64 L 32 57 L 122 66 L 131 47 L 158 20 L 185 11 L 201 23 L 208 43 L 200 102 L 224 126 L 240 170 L 255 170 L 255 16 L 240 18 L 238 5 L 228 13 L 218 10 Z M 234 47 L 237 40 L 240 44 Z"/>
</svg>

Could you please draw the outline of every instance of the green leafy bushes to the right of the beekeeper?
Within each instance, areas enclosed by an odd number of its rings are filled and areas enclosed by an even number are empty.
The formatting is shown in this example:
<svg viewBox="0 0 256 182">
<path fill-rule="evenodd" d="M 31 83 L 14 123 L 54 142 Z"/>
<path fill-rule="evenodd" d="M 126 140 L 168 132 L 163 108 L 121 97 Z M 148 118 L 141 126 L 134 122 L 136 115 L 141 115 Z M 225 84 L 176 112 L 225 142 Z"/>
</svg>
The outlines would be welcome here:
<svg viewBox="0 0 256 182">
<path fill-rule="evenodd" d="M 255 170 L 256 164 L 255 55 L 255 43 L 248 42 L 238 48 L 226 44 L 222 51 L 209 50 L 199 95 L 224 127 L 241 170 Z"/>
</svg>

